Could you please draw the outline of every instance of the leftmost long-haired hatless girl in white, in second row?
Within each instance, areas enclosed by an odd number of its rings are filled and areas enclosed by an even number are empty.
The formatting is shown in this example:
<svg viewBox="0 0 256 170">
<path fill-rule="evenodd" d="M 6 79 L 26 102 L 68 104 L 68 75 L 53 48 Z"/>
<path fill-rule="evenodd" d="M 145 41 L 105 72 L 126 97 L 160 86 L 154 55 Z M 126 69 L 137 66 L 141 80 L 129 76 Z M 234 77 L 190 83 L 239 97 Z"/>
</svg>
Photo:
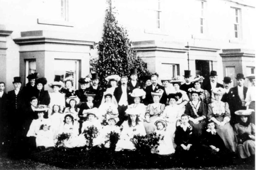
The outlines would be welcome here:
<svg viewBox="0 0 256 170">
<path fill-rule="evenodd" d="M 53 105 L 52 113 L 49 115 L 49 119 L 52 122 L 51 130 L 53 132 L 53 138 L 56 139 L 61 123 L 64 120 L 63 113 L 61 112 L 60 106 Z"/>
</svg>

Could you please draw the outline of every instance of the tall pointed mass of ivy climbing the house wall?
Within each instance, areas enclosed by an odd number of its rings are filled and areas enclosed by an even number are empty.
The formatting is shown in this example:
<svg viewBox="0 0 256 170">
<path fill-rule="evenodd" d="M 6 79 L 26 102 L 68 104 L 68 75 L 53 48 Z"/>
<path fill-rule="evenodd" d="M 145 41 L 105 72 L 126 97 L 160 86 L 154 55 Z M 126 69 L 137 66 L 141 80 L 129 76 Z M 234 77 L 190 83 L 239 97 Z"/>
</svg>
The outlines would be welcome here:
<svg viewBox="0 0 256 170">
<path fill-rule="evenodd" d="M 93 71 L 99 75 L 100 84 L 106 86 L 105 77 L 117 74 L 129 76 L 131 68 L 137 68 L 138 77 L 149 75 L 146 63 L 136 56 L 127 30 L 120 26 L 115 18 L 111 0 L 107 0 L 102 41 L 98 43 L 98 58 L 91 60 Z"/>
</svg>

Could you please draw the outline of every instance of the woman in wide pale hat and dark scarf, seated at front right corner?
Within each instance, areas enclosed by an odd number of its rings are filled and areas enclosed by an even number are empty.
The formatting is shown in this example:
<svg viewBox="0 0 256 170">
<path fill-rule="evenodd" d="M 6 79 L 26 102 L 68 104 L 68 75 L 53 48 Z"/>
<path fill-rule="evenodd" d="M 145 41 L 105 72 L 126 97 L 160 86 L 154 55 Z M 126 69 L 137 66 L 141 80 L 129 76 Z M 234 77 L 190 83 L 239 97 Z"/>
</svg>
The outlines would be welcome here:
<svg viewBox="0 0 256 170">
<path fill-rule="evenodd" d="M 240 122 L 235 124 L 237 136 L 237 150 L 241 158 L 255 156 L 255 125 L 250 123 L 250 115 L 254 110 L 239 110 L 235 114 L 240 116 Z"/>
</svg>

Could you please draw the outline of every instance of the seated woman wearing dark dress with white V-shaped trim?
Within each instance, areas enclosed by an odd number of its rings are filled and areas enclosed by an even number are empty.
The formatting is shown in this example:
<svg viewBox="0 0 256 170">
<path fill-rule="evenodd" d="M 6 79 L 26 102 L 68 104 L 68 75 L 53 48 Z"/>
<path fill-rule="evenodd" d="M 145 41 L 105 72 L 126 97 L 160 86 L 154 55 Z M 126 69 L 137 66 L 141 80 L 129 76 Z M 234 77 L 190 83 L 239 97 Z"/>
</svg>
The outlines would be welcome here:
<svg viewBox="0 0 256 170">
<path fill-rule="evenodd" d="M 192 101 L 186 105 L 185 114 L 189 117 L 189 124 L 194 128 L 194 135 L 200 137 L 202 131 L 205 130 L 205 118 L 207 116 L 207 109 L 204 102 L 201 102 L 199 96 L 201 92 L 190 91 Z"/>
</svg>

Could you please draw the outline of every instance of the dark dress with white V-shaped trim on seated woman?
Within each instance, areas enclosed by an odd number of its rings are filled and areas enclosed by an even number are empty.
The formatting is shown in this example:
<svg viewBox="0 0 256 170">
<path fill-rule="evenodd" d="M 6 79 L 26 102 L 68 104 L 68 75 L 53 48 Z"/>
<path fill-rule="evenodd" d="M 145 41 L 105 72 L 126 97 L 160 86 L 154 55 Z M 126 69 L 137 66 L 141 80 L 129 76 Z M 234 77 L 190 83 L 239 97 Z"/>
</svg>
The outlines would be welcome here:
<svg viewBox="0 0 256 170">
<path fill-rule="evenodd" d="M 195 130 L 195 136 L 200 137 L 202 131 L 206 128 L 205 118 L 207 116 L 207 109 L 204 102 L 198 101 L 198 104 L 194 106 L 192 102 L 188 102 L 185 109 L 185 114 L 191 118 L 203 117 L 204 119 L 199 121 L 199 124 L 194 124 L 192 121 L 189 121 L 189 124 L 193 126 Z"/>
</svg>

